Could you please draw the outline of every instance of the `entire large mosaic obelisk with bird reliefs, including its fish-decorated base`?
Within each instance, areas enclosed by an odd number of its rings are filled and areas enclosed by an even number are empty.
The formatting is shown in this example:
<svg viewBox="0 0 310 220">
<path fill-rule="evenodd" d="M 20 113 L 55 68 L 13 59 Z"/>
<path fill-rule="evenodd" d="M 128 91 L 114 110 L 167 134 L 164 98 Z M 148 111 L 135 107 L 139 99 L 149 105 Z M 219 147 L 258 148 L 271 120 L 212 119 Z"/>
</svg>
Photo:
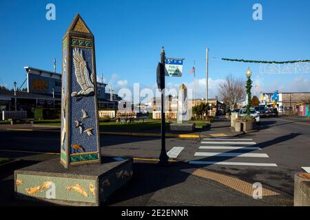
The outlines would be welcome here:
<svg viewBox="0 0 310 220">
<path fill-rule="evenodd" d="M 133 175 L 132 159 L 101 157 L 94 35 L 76 14 L 63 37 L 61 157 L 14 171 L 15 196 L 99 206 Z"/>
</svg>

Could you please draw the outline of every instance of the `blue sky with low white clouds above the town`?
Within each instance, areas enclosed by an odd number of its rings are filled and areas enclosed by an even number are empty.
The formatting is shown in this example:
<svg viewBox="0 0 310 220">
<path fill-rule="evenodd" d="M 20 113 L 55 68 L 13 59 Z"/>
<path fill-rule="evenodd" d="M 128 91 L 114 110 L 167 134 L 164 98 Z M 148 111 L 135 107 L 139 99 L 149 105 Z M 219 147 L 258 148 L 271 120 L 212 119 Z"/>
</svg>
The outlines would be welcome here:
<svg viewBox="0 0 310 220">
<path fill-rule="evenodd" d="M 45 19 L 45 6 L 56 5 L 56 21 Z M 262 21 L 254 21 L 254 3 Z M 203 96 L 205 47 L 209 47 L 209 96 L 227 76 L 245 77 L 251 67 L 260 90 L 310 91 L 310 74 L 260 74 L 260 65 L 219 58 L 262 61 L 310 59 L 310 1 L 0 1 L 0 85 L 23 82 L 24 66 L 57 71 L 61 39 L 79 12 L 96 39 L 97 76 L 115 88 L 156 83 L 161 46 L 166 56 L 185 58 L 182 78 L 167 85 L 191 83 L 196 61 L 197 96 Z M 215 57 L 216 59 L 213 59 Z M 200 81 L 199 81 L 200 80 Z"/>
</svg>

